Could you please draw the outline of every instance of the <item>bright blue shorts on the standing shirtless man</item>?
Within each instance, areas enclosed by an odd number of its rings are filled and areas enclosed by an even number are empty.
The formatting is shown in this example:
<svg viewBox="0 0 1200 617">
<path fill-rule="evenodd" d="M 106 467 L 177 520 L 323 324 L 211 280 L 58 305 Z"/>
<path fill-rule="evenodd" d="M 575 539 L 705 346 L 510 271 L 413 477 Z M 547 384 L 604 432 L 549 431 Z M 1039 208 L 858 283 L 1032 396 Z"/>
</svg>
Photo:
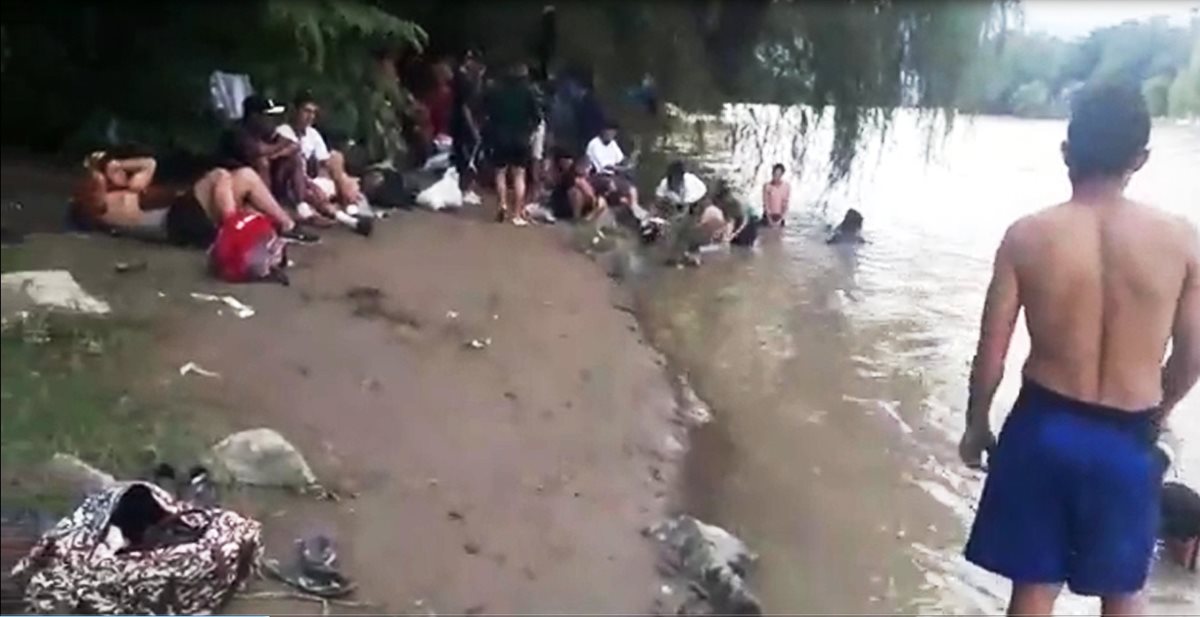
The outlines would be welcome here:
<svg viewBox="0 0 1200 617">
<path fill-rule="evenodd" d="M 967 561 L 1014 583 L 1066 582 L 1081 595 L 1140 591 L 1159 525 L 1156 415 L 1026 379 L 989 460 Z"/>
</svg>

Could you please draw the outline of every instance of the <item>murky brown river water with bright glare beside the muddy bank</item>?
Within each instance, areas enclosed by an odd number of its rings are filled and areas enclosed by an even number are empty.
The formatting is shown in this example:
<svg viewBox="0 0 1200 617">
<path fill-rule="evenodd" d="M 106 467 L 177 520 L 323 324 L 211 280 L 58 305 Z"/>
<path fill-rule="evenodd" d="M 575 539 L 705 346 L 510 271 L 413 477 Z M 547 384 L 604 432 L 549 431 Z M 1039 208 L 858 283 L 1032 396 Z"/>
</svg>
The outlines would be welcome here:
<svg viewBox="0 0 1200 617">
<path fill-rule="evenodd" d="M 750 199 L 774 162 L 803 163 L 785 230 L 640 283 L 653 341 L 716 418 L 694 436 L 686 505 L 758 551 L 754 586 L 772 612 L 997 613 L 1007 582 L 960 557 L 983 477 L 955 443 L 992 252 L 1008 223 L 1067 198 L 1066 124 L 959 118 L 930 142 L 901 115 L 829 188 L 828 126 L 797 139 L 798 119 L 730 106 L 703 137 L 664 140 Z M 1129 193 L 1200 221 L 1200 127 L 1157 125 L 1151 148 Z M 869 244 L 824 245 L 851 206 Z M 1022 325 L 997 429 L 1027 351 Z M 1172 432 L 1174 473 L 1200 487 L 1200 395 Z M 1151 613 L 1200 613 L 1200 579 L 1156 564 L 1147 598 Z M 1063 615 L 1097 609 L 1058 603 Z"/>
</svg>

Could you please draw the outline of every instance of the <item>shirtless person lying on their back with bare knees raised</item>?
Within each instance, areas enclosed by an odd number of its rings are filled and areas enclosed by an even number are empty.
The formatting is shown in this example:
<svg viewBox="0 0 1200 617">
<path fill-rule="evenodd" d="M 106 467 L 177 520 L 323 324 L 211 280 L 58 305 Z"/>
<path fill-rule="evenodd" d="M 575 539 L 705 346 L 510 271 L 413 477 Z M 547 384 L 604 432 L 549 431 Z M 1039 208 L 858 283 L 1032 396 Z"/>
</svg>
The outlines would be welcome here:
<svg viewBox="0 0 1200 617">
<path fill-rule="evenodd" d="M 150 157 L 119 158 L 94 152 L 72 199 L 74 220 L 88 228 L 112 229 L 180 246 L 206 248 L 217 227 L 239 208 L 266 215 L 281 235 L 295 241 L 317 236 L 296 228 L 253 169 L 212 169 L 185 188 L 154 184 Z"/>
</svg>

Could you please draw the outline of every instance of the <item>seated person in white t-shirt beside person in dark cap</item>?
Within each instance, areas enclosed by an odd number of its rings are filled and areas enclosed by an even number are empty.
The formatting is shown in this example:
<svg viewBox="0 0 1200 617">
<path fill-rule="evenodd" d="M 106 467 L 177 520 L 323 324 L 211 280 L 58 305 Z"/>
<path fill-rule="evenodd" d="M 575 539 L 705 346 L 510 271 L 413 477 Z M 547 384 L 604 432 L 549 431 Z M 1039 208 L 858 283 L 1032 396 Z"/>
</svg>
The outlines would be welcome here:
<svg viewBox="0 0 1200 617">
<path fill-rule="evenodd" d="M 275 130 L 280 137 L 300 144 L 300 157 L 311 190 L 306 192 L 305 202 L 296 206 L 296 212 L 302 220 L 317 218 L 319 212 L 362 235 L 370 235 L 374 217 L 366 206 L 359 179 L 346 172 L 342 152 L 330 150 L 325 138 L 313 126 L 319 110 L 312 95 L 301 92 L 293 102 L 292 116 Z"/>
</svg>

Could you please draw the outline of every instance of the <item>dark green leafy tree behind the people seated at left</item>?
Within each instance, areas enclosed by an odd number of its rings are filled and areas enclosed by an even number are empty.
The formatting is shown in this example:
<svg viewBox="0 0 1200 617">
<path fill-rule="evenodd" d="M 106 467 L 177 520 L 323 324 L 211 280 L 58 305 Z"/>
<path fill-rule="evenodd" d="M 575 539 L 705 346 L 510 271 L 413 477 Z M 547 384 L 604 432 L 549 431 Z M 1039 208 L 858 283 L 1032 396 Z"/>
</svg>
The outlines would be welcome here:
<svg viewBox="0 0 1200 617">
<path fill-rule="evenodd" d="M 133 32 L 137 32 L 134 35 Z M 326 124 L 358 125 L 367 50 L 420 47 L 415 24 L 365 0 L 119 2 L 4 7 L 6 143 L 78 151 L 119 137 L 158 151 L 211 150 L 214 70 L 269 95 L 329 96 Z M 348 131 L 353 132 L 353 131 Z"/>
</svg>

